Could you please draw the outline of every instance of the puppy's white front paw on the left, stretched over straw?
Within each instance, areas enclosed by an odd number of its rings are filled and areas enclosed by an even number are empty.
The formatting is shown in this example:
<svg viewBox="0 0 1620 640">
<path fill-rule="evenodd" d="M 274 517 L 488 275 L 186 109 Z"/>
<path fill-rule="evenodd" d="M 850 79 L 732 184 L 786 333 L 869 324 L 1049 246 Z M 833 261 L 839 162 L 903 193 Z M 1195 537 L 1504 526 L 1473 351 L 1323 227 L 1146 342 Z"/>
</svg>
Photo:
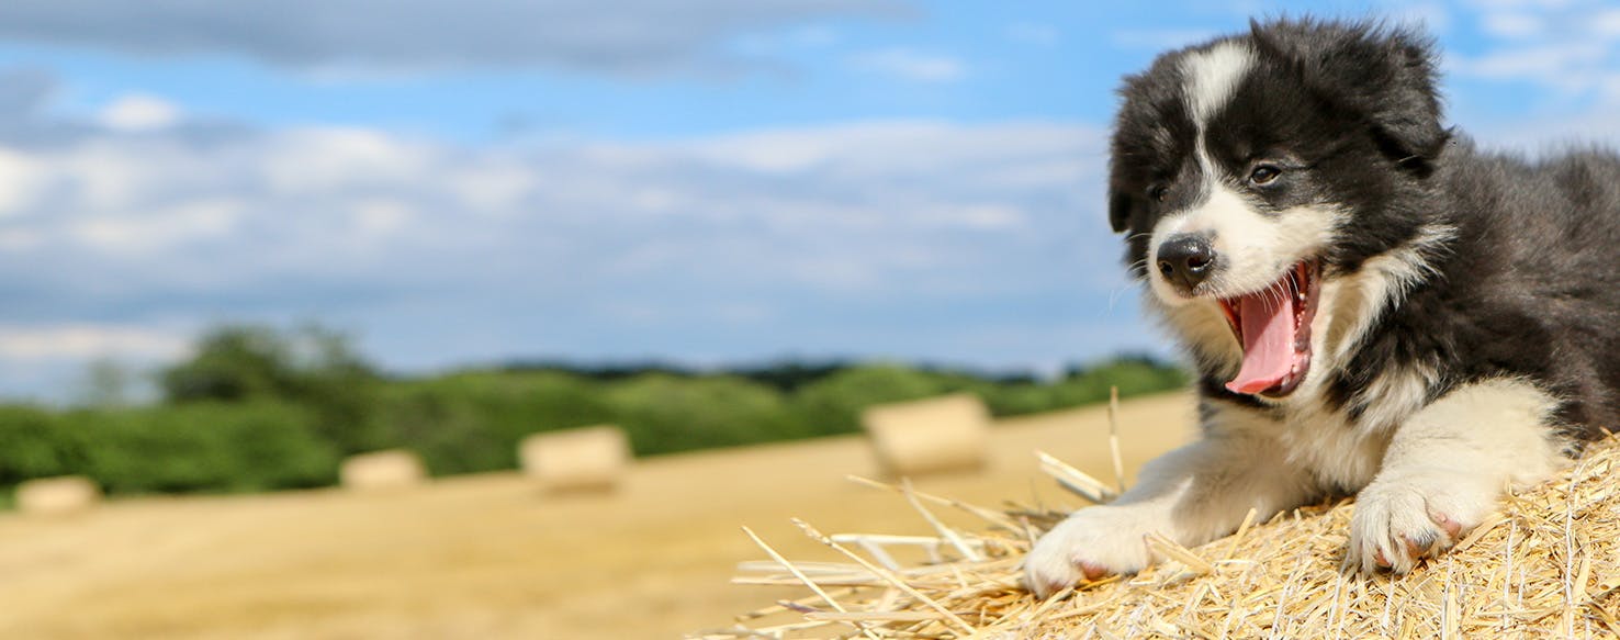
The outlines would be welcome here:
<svg viewBox="0 0 1620 640">
<path fill-rule="evenodd" d="M 1081 578 L 1142 570 L 1152 562 L 1142 536 L 1163 531 L 1162 520 L 1140 507 L 1081 509 L 1035 541 L 1024 557 L 1024 583 L 1045 598 Z"/>
</svg>

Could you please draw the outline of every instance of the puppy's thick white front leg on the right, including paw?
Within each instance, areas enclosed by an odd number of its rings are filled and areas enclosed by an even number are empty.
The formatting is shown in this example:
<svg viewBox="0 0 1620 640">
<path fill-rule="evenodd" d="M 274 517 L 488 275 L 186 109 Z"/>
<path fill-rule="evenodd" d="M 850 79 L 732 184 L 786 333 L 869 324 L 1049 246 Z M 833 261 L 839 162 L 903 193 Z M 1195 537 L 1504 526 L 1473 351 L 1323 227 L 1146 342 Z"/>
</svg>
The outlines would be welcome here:
<svg viewBox="0 0 1620 640">
<path fill-rule="evenodd" d="M 1405 574 L 1455 544 L 1497 506 L 1507 483 L 1547 478 L 1563 462 L 1557 400 L 1513 379 L 1458 387 L 1413 415 L 1383 467 L 1356 496 L 1346 562 Z"/>
</svg>

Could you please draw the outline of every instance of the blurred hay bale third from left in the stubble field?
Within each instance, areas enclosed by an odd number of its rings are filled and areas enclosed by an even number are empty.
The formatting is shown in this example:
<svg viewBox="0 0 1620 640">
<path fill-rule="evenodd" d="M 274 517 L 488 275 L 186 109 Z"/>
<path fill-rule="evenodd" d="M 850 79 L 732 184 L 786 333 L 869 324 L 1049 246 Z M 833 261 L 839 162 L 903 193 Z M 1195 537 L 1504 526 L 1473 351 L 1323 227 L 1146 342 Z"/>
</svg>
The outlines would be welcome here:
<svg viewBox="0 0 1620 640">
<path fill-rule="evenodd" d="M 630 463 L 630 439 L 611 425 L 541 433 L 523 439 L 518 459 L 546 491 L 611 491 Z"/>
</svg>

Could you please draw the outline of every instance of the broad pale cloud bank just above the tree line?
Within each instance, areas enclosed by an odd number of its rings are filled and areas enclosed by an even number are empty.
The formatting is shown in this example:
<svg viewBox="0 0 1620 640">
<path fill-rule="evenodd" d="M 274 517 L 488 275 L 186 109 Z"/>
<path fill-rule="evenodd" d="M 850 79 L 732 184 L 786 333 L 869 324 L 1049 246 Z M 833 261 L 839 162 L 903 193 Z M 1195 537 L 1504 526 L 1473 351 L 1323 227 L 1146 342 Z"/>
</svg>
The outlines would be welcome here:
<svg viewBox="0 0 1620 640">
<path fill-rule="evenodd" d="M 232 318 L 337 322 L 386 366 L 791 352 L 1008 363 L 961 347 L 978 322 L 909 334 L 987 297 L 1038 316 L 1069 297 L 1100 305 L 1121 282 L 1098 204 L 1103 131 L 1068 123 L 497 147 L 177 130 L 8 154 L 0 172 L 28 167 L 37 186 L 0 227 L 0 290 L 29 322 L 0 347 L 0 376 L 52 353 L 173 353 L 165 327 Z"/>
</svg>

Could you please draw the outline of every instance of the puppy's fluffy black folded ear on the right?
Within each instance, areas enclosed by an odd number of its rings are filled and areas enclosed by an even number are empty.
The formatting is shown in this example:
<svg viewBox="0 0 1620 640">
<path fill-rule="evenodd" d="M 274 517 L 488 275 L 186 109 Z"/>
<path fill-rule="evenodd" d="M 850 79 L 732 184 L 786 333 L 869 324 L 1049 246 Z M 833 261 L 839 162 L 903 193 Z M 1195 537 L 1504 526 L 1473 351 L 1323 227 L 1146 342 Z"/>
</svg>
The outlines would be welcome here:
<svg viewBox="0 0 1620 640">
<path fill-rule="evenodd" d="M 1290 60 L 1319 97 L 1358 113 L 1396 164 L 1429 170 L 1452 131 L 1440 125 L 1427 36 L 1375 23 L 1251 23 L 1259 47 Z"/>
</svg>

